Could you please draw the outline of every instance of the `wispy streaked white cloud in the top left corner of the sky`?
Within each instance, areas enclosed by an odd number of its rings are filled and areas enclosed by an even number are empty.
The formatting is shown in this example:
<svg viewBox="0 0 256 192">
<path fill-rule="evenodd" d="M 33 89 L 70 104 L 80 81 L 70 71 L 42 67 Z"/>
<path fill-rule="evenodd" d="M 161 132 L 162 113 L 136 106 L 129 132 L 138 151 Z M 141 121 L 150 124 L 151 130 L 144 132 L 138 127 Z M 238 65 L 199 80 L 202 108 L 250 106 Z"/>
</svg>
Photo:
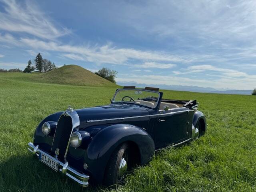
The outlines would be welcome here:
<svg viewBox="0 0 256 192">
<path fill-rule="evenodd" d="M 15 0 L 1 0 L 5 5 L 0 12 L 0 29 L 25 32 L 44 39 L 54 39 L 70 33 L 70 30 L 52 24 L 50 19 L 32 2 L 22 5 Z M 19 3 L 19 4 L 18 4 Z"/>
</svg>

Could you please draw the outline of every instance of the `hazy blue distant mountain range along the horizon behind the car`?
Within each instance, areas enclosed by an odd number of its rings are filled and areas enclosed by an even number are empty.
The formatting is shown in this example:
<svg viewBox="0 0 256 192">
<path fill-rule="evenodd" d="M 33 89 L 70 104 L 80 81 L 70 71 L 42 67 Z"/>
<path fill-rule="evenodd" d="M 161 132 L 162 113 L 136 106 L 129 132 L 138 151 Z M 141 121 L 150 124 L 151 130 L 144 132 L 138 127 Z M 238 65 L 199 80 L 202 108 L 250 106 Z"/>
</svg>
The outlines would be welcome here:
<svg viewBox="0 0 256 192">
<path fill-rule="evenodd" d="M 182 86 L 182 85 L 165 85 L 165 84 L 139 84 L 134 81 L 130 82 L 117 82 L 120 86 L 136 86 L 140 88 L 144 87 L 157 87 L 165 90 L 176 90 L 176 91 L 191 91 L 201 93 L 219 93 L 219 94 L 240 94 L 250 95 L 252 90 L 232 90 L 232 89 L 214 89 L 211 87 L 198 87 L 198 86 Z"/>
</svg>

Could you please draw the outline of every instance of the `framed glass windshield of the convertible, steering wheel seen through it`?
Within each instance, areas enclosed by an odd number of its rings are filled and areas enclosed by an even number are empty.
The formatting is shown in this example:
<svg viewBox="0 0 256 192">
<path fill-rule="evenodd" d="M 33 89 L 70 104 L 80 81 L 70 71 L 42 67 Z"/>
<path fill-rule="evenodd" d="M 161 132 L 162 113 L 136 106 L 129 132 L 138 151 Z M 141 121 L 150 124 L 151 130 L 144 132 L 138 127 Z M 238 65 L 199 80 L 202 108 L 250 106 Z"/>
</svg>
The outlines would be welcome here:
<svg viewBox="0 0 256 192">
<path fill-rule="evenodd" d="M 160 94 L 158 92 L 150 90 L 120 89 L 116 91 L 112 102 L 131 102 L 155 108 L 157 106 L 159 96 Z"/>
</svg>

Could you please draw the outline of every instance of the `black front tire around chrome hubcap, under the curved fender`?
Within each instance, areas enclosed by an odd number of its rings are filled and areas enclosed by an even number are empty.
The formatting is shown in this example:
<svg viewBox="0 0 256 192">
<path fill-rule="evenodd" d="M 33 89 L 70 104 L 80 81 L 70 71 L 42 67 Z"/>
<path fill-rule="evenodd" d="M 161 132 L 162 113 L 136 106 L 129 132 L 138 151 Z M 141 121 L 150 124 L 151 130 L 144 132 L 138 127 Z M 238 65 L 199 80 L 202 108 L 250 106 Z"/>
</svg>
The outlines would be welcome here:
<svg viewBox="0 0 256 192">
<path fill-rule="evenodd" d="M 130 152 L 129 151 L 130 151 L 130 148 L 126 143 L 121 144 L 116 148 L 116 150 L 114 150 L 106 166 L 105 177 L 103 182 L 105 186 L 110 186 L 111 188 L 117 188 L 118 185 L 123 183 L 125 174 L 124 176 L 122 176 L 122 178 L 118 176 L 119 166 L 120 166 L 121 160 L 125 158 L 126 164 L 127 164 L 127 170 L 130 169 L 130 162 L 129 162 Z"/>
</svg>

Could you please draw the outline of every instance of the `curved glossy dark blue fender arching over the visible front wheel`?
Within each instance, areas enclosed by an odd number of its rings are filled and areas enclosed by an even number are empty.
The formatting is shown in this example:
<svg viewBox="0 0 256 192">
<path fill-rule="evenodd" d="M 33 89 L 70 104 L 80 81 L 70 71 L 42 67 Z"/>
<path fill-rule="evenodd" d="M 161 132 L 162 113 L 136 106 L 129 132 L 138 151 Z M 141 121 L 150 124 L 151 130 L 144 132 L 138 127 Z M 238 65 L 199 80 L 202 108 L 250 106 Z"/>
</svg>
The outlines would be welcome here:
<svg viewBox="0 0 256 192">
<path fill-rule="evenodd" d="M 130 124 L 108 126 L 92 138 L 84 158 L 94 180 L 102 182 L 111 154 L 124 142 L 134 142 L 138 146 L 142 165 L 154 155 L 154 141 L 146 130 Z"/>
</svg>

